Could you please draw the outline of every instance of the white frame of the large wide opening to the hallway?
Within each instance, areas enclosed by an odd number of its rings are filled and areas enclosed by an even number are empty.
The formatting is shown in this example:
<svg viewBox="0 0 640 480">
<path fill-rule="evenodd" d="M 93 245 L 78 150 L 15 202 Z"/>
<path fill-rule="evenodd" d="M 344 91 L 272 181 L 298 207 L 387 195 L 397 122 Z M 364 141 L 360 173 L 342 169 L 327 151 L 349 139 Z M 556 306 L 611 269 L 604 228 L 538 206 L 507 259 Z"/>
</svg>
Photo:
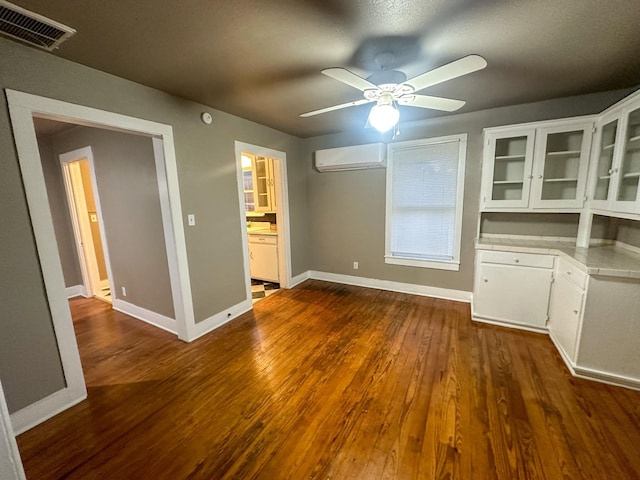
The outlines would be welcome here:
<svg viewBox="0 0 640 480">
<path fill-rule="evenodd" d="M 6 89 L 11 126 L 66 387 L 11 415 L 20 434 L 87 396 L 33 117 L 152 137 L 177 335 L 197 338 L 173 129 L 170 125 Z"/>
</svg>

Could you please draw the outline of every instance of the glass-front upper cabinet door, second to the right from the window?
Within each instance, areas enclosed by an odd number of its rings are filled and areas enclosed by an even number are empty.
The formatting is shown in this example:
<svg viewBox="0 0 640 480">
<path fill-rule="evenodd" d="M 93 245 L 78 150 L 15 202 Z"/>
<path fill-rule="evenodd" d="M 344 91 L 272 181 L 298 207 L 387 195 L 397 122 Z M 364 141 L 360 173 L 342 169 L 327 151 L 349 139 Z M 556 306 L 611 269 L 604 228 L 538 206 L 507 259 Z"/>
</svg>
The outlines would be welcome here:
<svg viewBox="0 0 640 480">
<path fill-rule="evenodd" d="M 591 122 L 536 130 L 531 207 L 582 207 L 592 133 Z"/>
</svg>

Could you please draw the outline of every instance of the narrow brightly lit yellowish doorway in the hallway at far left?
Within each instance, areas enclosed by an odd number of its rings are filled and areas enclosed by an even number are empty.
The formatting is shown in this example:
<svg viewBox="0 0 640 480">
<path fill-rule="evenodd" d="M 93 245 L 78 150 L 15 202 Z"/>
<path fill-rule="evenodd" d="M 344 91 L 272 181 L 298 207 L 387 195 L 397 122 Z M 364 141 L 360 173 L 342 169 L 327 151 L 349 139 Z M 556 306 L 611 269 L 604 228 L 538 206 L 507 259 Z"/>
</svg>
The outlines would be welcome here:
<svg viewBox="0 0 640 480">
<path fill-rule="evenodd" d="M 85 296 L 112 303 L 111 264 L 91 147 L 59 156 Z"/>
</svg>

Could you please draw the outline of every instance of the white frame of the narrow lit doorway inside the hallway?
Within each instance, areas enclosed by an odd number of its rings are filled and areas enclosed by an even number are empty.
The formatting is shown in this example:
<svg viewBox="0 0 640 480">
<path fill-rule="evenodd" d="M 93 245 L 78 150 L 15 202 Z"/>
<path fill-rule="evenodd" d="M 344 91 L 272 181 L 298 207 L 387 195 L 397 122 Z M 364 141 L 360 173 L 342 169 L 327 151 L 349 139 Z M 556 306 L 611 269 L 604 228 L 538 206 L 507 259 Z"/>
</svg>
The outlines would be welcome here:
<svg viewBox="0 0 640 480">
<path fill-rule="evenodd" d="M 97 257 L 94 247 L 93 234 L 91 232 L 91 224 L 86 215 L 87 202 L 84 195 L 84 180 L 82 179 L 80 170 L 80 161 L 86 160 L 89 165 L 91 176 L 91 189 L 96 207 L 96 216 L 98 229 L 100 230 L 100 241 L 102 250 L 104 251 L 104 262 L 107 269 L 107 280 L 109 288 L 113 292 L 113 275 L 111 274 L 111 262 L 109 260 L 109 248 L 107 245 L 106 231 L 104 229 L 104 218 L 102 216 L 102 208 L 100 205 L 100 194 L 95 175 L 95 164 L 93 160 L 93 151 L 91 147 L 83 147 L 71 152 L 62 153 L 58 156 L 62 167 L 62 173 L 69 204 L 69 213 L 71 215 L 71 224 L 73 226 L 74 238 L 76 241 L 76 250 L 78 252 L 78 261 L 80 262 L 80 271 L 82 273 L 83 287 L 87 297 L 95 296 L 100 293 L 101 280 L 98 269 Z M 80 185 L 81 188 L 78 188 Z"/>
</svg>

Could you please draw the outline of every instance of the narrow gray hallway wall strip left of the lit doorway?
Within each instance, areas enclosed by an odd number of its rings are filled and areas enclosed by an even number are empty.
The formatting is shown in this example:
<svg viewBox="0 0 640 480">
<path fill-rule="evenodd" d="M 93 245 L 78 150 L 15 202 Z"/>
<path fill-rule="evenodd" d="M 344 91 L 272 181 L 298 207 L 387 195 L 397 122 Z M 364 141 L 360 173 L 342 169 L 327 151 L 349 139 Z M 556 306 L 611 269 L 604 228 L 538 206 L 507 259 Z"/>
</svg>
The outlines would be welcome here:
<svg viewBox="0 0 640 480">
<path fill-rule="evenodd" d="M 78 263 L 78 253 L 75 239 L 73 238 L 73 226 L 69 215 L 69 202 L 65 193 L 64 178 L 60 161 L 53 153 L 51 137 L 48 135 L 38 135 L 38 149 L 42 162 L 42 173 L 47 187 L 49 197 L 49 209 L 51 219 L 58 242 L 58 252 L 60 252 L 60 263 L 64 275 L 66 287 L 82 284 L 82 273 Z"/>
</svg>

